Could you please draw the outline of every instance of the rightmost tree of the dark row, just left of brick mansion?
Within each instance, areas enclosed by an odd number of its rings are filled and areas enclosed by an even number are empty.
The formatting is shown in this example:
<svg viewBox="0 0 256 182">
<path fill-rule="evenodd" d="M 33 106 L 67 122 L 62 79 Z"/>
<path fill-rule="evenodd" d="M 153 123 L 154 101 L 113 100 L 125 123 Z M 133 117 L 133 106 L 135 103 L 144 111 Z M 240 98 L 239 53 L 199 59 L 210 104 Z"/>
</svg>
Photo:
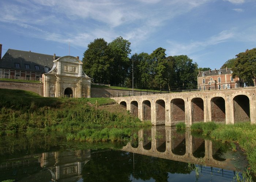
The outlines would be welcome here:
<svg viewBox="0 0 256 182">
<path fill-rule="evenodd" d="M 174 56 L 177 85 L 185 88 L 197 87 L 197 63 L 192 63 L 187 55 Z"/>
</svg>

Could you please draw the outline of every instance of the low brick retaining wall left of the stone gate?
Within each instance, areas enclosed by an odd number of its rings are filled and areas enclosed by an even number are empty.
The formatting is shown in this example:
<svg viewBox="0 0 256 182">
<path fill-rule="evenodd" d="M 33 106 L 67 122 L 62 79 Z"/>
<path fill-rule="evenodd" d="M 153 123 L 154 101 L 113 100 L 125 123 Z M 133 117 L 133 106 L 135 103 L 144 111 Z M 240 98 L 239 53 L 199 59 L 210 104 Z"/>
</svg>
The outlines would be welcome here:
<svg viewBox="0 0 256 182">
<path fill-rule="evenodd" d="M 35 92 L 41 96 L 44 95 L 42 83 L 10 82 L 10 81 L 0 80 L 0 88 L 26 90 L 26 91 Z"/>
</svg>

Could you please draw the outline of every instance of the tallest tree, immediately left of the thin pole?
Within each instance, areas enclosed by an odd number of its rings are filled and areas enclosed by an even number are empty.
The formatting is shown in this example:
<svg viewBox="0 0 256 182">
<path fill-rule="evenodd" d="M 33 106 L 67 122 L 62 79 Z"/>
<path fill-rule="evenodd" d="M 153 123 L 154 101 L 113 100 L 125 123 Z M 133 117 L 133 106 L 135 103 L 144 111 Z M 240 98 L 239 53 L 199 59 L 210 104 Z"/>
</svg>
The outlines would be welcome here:
<svg viewBox="0 0 256 182">
<path fill-rule="evenodd" d="M 131 66 L 128 55 L 131 54 L 131 43 L 123 37 L 117 37 L 109 43 L 113 64 L 111 67 L 110 84 L 124 86 L 128 76 L 128 68 Z"/>
</svg>

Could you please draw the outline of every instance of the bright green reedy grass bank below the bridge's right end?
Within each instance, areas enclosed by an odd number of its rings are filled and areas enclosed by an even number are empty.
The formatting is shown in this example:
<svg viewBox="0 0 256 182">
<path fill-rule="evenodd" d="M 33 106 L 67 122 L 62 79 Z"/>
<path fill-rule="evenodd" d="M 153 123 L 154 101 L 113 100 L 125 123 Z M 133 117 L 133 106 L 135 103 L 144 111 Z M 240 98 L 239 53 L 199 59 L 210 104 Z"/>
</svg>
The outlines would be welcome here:
<svg viewBox="0 0 256 182">
<path fill-rule="evenodd" d="M 216 124 L 214 122 L 194 123 L 191 131 L 199 131 L 203 135 L 218 141 L 238 142 L 245 150 L 249 168 L 256 174 L 256 125 L 247 123 Z M 233 150 L 236 145 L 233 143 Z"/>
</svg>

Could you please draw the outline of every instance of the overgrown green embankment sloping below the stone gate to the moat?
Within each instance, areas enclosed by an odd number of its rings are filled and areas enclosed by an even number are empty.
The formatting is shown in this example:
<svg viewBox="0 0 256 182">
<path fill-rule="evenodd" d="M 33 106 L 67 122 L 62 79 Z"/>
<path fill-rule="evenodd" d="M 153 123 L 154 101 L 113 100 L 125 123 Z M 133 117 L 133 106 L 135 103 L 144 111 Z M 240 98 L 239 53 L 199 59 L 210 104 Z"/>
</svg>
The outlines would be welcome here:
<svg viewBox="0 0 256 182">
<path fill-rule="evenodd" d="M 0 134 L 62 131 L 69 140 L 122 141 L 132 136 L 130 127 L 151 125 L 126 111 L 97 109 L 93 107 L 96 100 L 99 106 L 115 102 L 109 98 L 44 98 L 33 92 L 0 89 Z"/>
</svg>

